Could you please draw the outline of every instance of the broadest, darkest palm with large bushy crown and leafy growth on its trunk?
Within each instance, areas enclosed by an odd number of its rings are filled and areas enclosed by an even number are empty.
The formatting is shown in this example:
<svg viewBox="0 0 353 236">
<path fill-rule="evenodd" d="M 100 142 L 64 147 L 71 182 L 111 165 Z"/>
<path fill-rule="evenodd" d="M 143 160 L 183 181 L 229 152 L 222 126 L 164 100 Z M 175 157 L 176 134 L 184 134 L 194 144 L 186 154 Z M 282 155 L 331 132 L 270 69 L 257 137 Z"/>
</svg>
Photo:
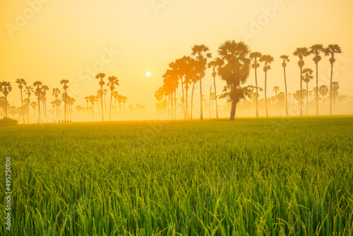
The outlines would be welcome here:
<svg viewBox="0 0 353 236">
<path fill-rule="evenodd" d="M 218 74 L 227 82 L 224 90 L 226 93 L 221 98 L 227 96 L 229 102 L 232 102 L 229 120 L 234 120 L 237 102 L 244 98 L 244 91 L 239 87 L 249 78 L 251 64 L 249 53 L 248 45 L 234 40 L 227 40 L 218 48 L 222 61 L 218 66 Z"/>
</svg>

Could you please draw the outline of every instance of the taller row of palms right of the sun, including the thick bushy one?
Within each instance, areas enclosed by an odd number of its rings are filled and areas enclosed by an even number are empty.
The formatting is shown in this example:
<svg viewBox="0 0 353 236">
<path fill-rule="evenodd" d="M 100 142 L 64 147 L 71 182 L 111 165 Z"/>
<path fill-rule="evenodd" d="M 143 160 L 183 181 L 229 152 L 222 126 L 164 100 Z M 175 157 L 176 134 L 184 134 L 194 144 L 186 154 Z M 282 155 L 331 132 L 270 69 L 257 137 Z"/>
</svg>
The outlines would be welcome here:
<svg viewBox="0 0 353 236">
<path fill-rule="evenodd" d="M 284 72 L 284 83 L 285 83 L 285 93 L 279 93 L 277 91 L 279 87 L 275 87 L 275 100 L 281 101 L 285 100 L 286 116 L 288 117 L 288 95 L 294 96 L 296 100 L 299 101 L 300 116 L 303 115 L 303 102 L 304 98 L 307 99 L 306 105 L 309 104 L 309 88 L 308 84 L 313 79 L 313 70 L 309 68 L 304 68 L 304 57 L 310 55 L 313 56 L 313 61 L 316 64 L 316 87 L 313 89 L 315 93 L 316 101 L 316 115 L 319 114 L 318 102 L 319 93 L 323 96 L 329 92 L 330 100 L 330 114 L 332 114 L 333 101 L 336 100 L 338 96 L 339 85 L 337 82 L 333 82 L 333 64 L 335 63 L 335 54 L 341 53 L 340 46 L 338 45 L 328 45 L 328 47 L 323 47 L 323 45 L 313 45 L 309 49 L 306 47 L 298 47 L 293 55 L 298 57 L 298 66 L 300 69 L 300 90 L 297 90 L 293 95 L 287 91 L 287 76 L 286 76 L 286 66 L 289 63 L 289 55 L 282 55 L 280 57 L 282 61 L 282 67 Z M 330 74 L 330 88 L 326 85 L 321 85 L 318 87 L 318 63 L 321 61 L 321 54 L 329 57 L 331 74 Z M 155 92 L 155 98 L 157 100 L 157 111 L 160 113 L 168 107 L 168 111 L 174 119 L 177 118 L 177 89 L 181 90 L 180 104 L 182 110 L 182 116 L 184 119 L 193 118 L 193 93 L 195 85 L 198 83 L 200 85 L 200 120 L 203 120 L 203 103 L 206 105 L 205 96 L 202 90 L 202 79 L 205 76 L 205 71 L 207 68 L 212 69 L 213 76 L 213 93 L 212 85 L 210 86 L 210 104 L 211 101 L 215 100 L 215 112 L 216 118 L 218 118 L 218 106 L 217 98 L 227 98 L 227 102 L 231 102 L 232 107 L 230 110 L 230 120 L 234 120 L 235 113 L 237 110 L 237 104 L 241 100 L 249 98 L 254 99 L 256 102 L 256 117 L 258 117 L 258 97 L 259 91 L 264 90 L 265 93 L 265 113 L 266 117 L 268 114 L 268 102 L 267 98 L 267 80 L 268 71 L 271 69 L 270 64 L 273 63 L 274 57 L 267 54 L 262 54 L 261 52 L 251 52 L 249 46 L 244 42 L 235 42 L 234 40 L 227 40 L 222 43 L 217 50 L 217 57 L 212 58 L 210 54 L 210 49 L 205 45 L 194 45 L 191 47 L 191 55 L 184 56 L 175 61 L 169 63 L 169 69 L 162 76 L 163 84 Z M 263 65 L 263 72 L 265 76 L 265 88 L 258 87 L 258 67 Z M 244 86 L 244 83 L 249 78 L 251 69 L 255 72 L 255 85 Z M 217 95 L 216 92 L 216 77 L 222 79 L 226 82 L 223 89 L 222 95 Z M 306 90 L 303 89 L 302 83 L 306 83 Z M 192 86 L 191 86 L 192 85 Z M 191 88 L 191 106 L 189 106 L 189 88 Z M 342 96 L 340 100 L 347 100 L 347 96 Z M 210 112 L 211 114 L 211 112 Z M 306 114 L 308 114 L 308 107 L 306 109 Z M 211 117 L 211 115 L 210 115 Z"/>
</svg>

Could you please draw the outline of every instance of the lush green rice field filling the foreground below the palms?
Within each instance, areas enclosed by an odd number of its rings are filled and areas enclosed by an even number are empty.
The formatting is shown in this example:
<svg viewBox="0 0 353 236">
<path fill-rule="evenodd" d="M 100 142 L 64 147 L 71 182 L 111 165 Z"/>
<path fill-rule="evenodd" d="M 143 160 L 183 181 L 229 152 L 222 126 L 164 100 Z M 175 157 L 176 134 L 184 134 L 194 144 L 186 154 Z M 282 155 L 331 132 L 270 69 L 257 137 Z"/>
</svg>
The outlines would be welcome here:
<svg viewBox="0 0 353 236">
<path fill-rule="evenodd" d="M 11 235 L 352 235 L 352 143 L 353 117 L 0 127 Z"/>
</svg>

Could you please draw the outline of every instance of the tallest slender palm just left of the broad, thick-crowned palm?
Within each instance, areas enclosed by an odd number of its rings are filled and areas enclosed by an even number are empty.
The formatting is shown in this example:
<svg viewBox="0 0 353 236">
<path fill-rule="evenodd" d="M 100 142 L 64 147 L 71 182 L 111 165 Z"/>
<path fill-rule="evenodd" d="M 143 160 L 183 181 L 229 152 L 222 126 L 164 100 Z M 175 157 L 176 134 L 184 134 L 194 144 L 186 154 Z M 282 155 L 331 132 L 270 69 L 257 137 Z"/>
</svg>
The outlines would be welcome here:
<svg viewBox="0 0 353 236">
<path fill-rule="evenodd" d="M 196 74 L 200 80 L 200 104 L 201 104 L 201 114 L 200 120 L 203 121 L 203 110 L 202 110 L 202 78 L 205 76 L 205 70 L 207 66 L 207 59 L 211 58 L 210 49 L 205 45 L 194 45 L 192 48 L 191 55 L 196 60 Z"/>
</svg>

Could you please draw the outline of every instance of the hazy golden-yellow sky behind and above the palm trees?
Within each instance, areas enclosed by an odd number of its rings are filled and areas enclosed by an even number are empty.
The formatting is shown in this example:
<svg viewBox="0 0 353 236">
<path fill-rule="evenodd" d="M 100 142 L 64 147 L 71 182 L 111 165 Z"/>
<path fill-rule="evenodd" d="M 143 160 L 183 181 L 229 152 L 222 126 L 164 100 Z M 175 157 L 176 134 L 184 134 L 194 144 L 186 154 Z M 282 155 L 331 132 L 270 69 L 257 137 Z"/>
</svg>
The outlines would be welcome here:
<svg viewBox="0 0 353 236">
<path fill-rule="evenodd" d="M 338 44 L 343 53 L 337 56 L 334 81 L 340 83 L 340 94 L 353 95 L 351 0 L 1 0 L 0 7 L 0 81 L 13 85 L 11 105 L 20 105 L 16 78 L 39 80 L 49 88 L 61 88 L 59 81 L 66 78 L 75 106 L 85 105 L 83 98 L 96 95 L 99 87 L 90 73 L 102 72 L 118 77 L 118 92 L 128 97 L 127 104 L 145 104 L 152 112 L 169 62 L 189 55 L 196 44 L 207 45 L 216 56 L 225 40 L 243 40 L 251 50 L 275 57 L 268 72 L 270 96 L 275 85 L 284 90 L 280 55 L 291 59 L 287 80 L 292 93 L 300 85 L 294 49 Z M 314 69 L 312 57 L 305 62 Z M 319 66 L 319 85 L 328 85 L 328 57 Z M 152 76 L 146 77 L 147 71 Z M 258 79 L 263 87 L 262 69 Z M 255 83 L 253 73 L 248 81 Z M 210 82 L 208 70 L 203 93 Z M 217 83 L 220 94 L 224 83 L 219 78 Z"/>
</svg>

